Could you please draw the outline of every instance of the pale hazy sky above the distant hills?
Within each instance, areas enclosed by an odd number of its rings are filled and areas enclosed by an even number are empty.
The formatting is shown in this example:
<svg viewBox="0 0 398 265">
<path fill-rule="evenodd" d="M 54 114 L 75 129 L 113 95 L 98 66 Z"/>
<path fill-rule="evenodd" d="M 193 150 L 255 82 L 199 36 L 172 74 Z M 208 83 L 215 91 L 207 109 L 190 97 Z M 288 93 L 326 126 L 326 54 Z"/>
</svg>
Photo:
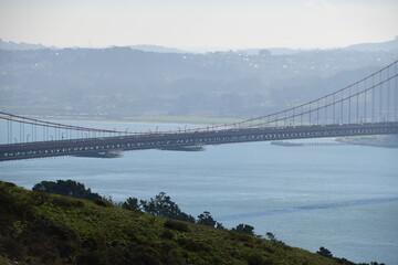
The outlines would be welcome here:
<svg viewBox="0 0 398 265">
<path fill-rule="evenodd" d="M 0 38 L 55 46 L 335 47 L 398 35 L 398 0 L 0 0 Z"/>
</svg>

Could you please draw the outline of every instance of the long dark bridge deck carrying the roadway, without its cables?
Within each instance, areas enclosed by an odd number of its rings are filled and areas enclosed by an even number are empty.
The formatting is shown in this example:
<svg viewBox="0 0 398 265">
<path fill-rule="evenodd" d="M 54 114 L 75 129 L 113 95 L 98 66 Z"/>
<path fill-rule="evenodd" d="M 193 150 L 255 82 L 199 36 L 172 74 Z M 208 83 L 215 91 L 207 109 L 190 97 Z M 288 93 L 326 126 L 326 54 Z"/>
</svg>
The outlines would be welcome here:
<svg viewBox="0 0 398 265">
<path fill-rule="evenodd" d="M 172 149 L 180 147 L 286 139 L 398 134 L 398 121 L 350 125 L 313 125 L 235 128 L 189 132 L 151 132 L 117 137 L 96 137 L 0 145 L 0 161 L 98 153 Z"/>
</svg>

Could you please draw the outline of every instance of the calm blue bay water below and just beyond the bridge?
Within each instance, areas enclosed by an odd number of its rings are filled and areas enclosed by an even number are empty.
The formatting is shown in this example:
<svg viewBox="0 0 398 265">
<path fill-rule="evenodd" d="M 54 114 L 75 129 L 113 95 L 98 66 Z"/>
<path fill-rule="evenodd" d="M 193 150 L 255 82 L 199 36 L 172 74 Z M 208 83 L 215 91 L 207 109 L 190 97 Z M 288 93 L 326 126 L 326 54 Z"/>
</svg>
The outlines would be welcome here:
<svg viewBox="0 0 398 265">
<path fill-rule="evenodd" d="M 90 126 L 155 130 L 180 125 Z M 210 211 L 227 227 L 247 223 L 256 234 L 270 231 L 311 252 L 325 246 L 357 263 L 397 265 L 397 161 L 398 149 L 254 142 L 209 146 L 202 152 L 145 150 L 117 159 L 1 162 L 0 179 L 29 189 L 42 180 L 73 179 L 116 201 L 165 191 L 185 212 Z"/>
</svg>

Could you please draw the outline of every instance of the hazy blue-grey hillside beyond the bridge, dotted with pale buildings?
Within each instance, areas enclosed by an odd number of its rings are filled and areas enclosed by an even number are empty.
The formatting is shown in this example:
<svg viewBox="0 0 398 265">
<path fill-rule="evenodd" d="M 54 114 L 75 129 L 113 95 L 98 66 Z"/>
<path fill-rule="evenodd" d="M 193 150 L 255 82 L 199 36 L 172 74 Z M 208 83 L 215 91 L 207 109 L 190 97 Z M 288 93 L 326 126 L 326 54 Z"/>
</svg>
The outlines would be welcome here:
<svg viewBox="0 0 398 265">
<path fill-rule="evenodd" d="M 0 50 L 0 108 L 96 117 L 249 118 L 339 89 L 398 52 L 159 53 L 109 49 Z"/>
</svg>

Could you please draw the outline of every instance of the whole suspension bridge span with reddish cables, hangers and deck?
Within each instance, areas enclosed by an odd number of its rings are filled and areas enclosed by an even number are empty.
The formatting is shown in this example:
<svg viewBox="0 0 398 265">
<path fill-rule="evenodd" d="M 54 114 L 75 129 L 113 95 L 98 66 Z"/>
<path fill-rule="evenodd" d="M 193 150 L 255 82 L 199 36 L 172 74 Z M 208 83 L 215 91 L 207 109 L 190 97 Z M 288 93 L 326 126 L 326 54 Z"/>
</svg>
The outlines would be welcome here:
<svg viewBox="0 0 398 265">
<path fill-rule="evenodd" d="M 0 161 L 101 156 L 249 141 L 398 134 L 398 61 L 346 87 L 277 113 L 184 130 L 122 131 L 0 112 Z"/>
</svg>

